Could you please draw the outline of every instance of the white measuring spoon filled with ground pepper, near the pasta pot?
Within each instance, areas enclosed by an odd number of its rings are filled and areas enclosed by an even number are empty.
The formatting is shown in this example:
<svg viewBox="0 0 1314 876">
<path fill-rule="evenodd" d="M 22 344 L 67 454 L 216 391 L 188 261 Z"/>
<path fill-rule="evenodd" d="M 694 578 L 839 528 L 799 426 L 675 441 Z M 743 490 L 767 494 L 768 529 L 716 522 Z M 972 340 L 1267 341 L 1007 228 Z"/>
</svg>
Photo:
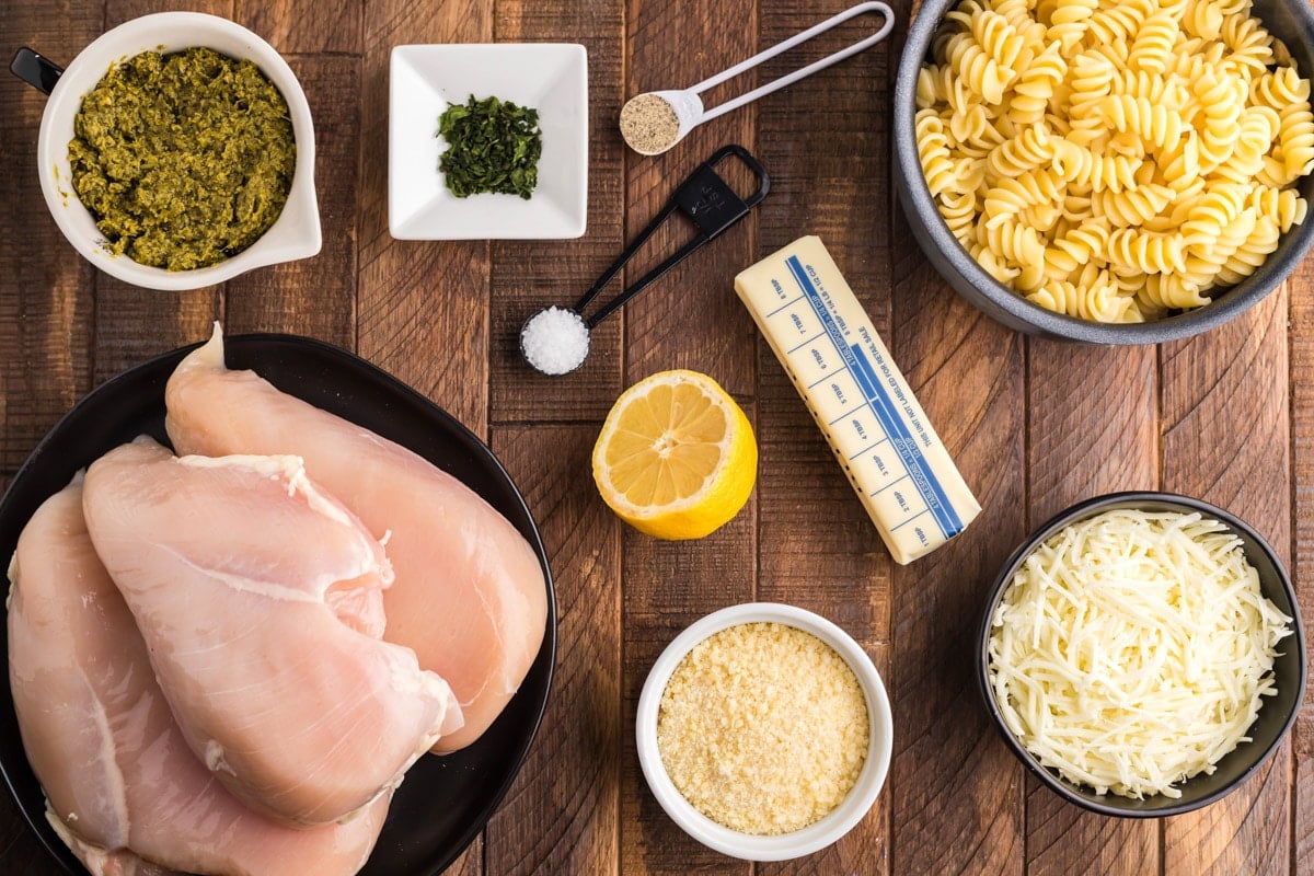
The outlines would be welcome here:
<svg viewBox="0 0 1314 876">
<path fill-rule="evenodd" d="M 746 95 L 741 95 L 735 100 L 725 101 L 720 106 L 714 109 L 704 109 L 703 100 L 699 97 L 700 93 L 712 88 L 714 85 L 720 85 L 721 83 L 738 76 L 740 74 L 757 67 L 759 63 L 769 58 L 779 55 L 782 51 L 788 51 L 795 46 L 807 42 L 812 37 L 834 28 L 838 24 L 848 21 L 855 16 L 861 16 L 865 12 L 879 12 L 884 21 L 880 29 L 862 39 L 855 42 L 848 49 L 841 49 L 840 51 L 816 60 L 807 67 L 795 70 L 792 74 L 781 76 L 779 79 L 770 81 L 759 88 L 754 88 Z M 732 109 L 738 109 L 745 104 L 752 104 L 758 97 L 770 95 L 774 91 L 779 91 L 786 85 L 792 85 L 800 79 L 805 79 L 819 70 L 825 70 L 830 64 L 844 60 L 851 55 L 858 54 L 863 49 L 870 49 L 882 39 L 884 39 L 890 30 L 895 25 L 895 13 L 888 5 L 883 3 L 859 3 L 855 7 L 845 9 L 837 16 L 827 18 L 819 25 L 808 28 L 803 33 L 790 37 L 784 42 L 767 49 L 766 51 L 758 53 L 738 64 L 735 64 L 729 70 L 716 74 L 711 79 L 704 79 L 691 88 L 685 89 L 670 89 L 670 91 L 652 91 L 643 95 L 631 97 L 620 110 L 620 134 L 625 138 L 625 143 L 629 148 L 635 150 L 641 155 L 658 155 L 665 152 L 671 146 L 678 143 L 689 134 L 691 130 L 702 125 L 703 122 L 723 116 Z"/>
</svg>

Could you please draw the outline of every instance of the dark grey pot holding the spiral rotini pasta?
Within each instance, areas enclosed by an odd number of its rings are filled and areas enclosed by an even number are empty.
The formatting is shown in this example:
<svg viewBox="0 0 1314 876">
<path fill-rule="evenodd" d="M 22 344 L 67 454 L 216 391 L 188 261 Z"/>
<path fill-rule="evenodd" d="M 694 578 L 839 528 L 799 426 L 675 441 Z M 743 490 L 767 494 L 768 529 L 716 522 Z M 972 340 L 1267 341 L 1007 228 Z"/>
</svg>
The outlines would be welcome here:
<svg viewBox="0 0 1314 876">
<path fill-rule="evenodd" d="M 1273 292 L 1305 257 L 1314 244 L 1314 210 L 1303 223 L 1282 235 L 1277 251 L 1240 284 L 1204 307 L 1146 323 L 1106 324 L 1056 314 L 1000 284 L 963 250 L 936 209 L 921 172 L 913 131 L 917 71 L 930 55 L 932 39 L 945 14 L 958 3 L 926 0 L 908 32 L 895 80 L 894 183 L 913 236 L 926 257 L 949 285 L 976 309 L 1009 328 L 1030 335 L 1092 344 L 1156 344 L 1197 335 L 1244 313 Z M 1310 4 L 1255 0 L 1251 14 L 1286 43 L 1302 77 L 1314 76 L 1314 8 Z M 1302 179 L 1298 188 L 1306 201 L 1314 202 L 1314 175 Z"/>
</svg>

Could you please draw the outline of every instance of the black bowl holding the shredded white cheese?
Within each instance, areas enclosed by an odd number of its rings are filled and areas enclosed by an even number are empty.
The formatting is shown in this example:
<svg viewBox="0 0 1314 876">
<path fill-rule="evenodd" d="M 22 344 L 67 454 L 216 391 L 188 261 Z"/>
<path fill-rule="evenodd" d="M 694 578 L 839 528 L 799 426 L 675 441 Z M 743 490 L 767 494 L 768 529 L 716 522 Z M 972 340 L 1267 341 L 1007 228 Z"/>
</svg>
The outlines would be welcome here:
<svg viewBox="0 0 1314 876">
<path fill-rule="evenodd" d="M 1077 520 L 1092 517 L 1105 511 L 1118 508 L 1141 508 L 1144 511 L 1176 511 L 1181 514 L 1200 514 L 1214 517 L 1223 523 L 1242 541 L 1246 558 L 1259 573 L 1259 587 L 1277 608 L 1292 619 L 1292 634 L 1279 644 L 1281 651 L 1273 663 L 1273 674 L 1277 691 L 1273 696 L 1264 697 L 1264 705 L 1251 725 L 1247 735 L 1251 742 L 1243 742 L 1231 753 L 1225 755 L 1212 775 L 1197 775 L 1177 785 L 1181 797 L 1166 797 L 1155 795 L 1144 800 L 1120 797 L 1113 793 L 1097 795 L 1093 789 L 1074 784 L 1063 779 L 1058 772 L 1042 766 L 1017 737 L 1008 729 L 1000 714 L 999 704 L 995 700 L 995 690 L 989 683 L 989 634 L 991 619 L 999 605 L 1005 588 L 1013 580 L 1013 573 L 1022 565 L 1028 554 L 1037 545 L 1047 540 L 1063 527 Z M 1301 703 L 1305 697 L 1305 628 L 1301 624 L 1300 605 L 1296 602 L 1296 588 L 1292 579 L 1282 567 L 1281 561 L 1269 548 L 1264 538 L 1251 529 L 1246 523 L 1231 514 L 1200 499 L 1190 499 L 1171 493 L 1113 493 L 1095 499 L 1080 502 L 1059 516 L 1054 517 L 1043 527 L 1031 533 L 1022 546 L 1013 552 L 1013 556 L 1004 563 L 1003 571 L 991 588 L 986 600 L 986 612 L 982 616 L 980 628 L 976 633 L 976 683 L 982 699 L 986 701 L 986 711 L 989 712 L 1004 742 L 1017 755 L 1037 779 L 1047 788 L 1058 793 L 1064 800 L 1075 802 L 1083 809 L 1097 812 L 1105 816 L 1123 816 L 1130 818 L 1158 818 L 1162 816 L 1176 816 L 1192 809 L 1200 809 L 1225 797 L 1246 781 L 1265 760 L 1273 754 L 1282 737 L 1296 721 Z"/>
</svg>

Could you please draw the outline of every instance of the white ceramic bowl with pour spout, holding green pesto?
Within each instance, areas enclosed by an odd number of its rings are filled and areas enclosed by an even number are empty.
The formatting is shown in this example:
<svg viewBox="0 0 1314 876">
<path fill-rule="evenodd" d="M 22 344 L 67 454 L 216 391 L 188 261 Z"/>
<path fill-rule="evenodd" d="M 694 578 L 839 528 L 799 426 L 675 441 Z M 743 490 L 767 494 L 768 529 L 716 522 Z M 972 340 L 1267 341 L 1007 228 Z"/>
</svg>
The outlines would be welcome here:
<svg viewBox="0 0 1314 876">
<path fill-rule="evenodd" d="M 164 271 L 114 255 L 104 235 L 72 190 L 68 142 L 83 95 L 109 71 L 110 64 L 143 51 L 180 51 L 208 46 L 231 58 L 248 58 L 269 77 L 292 113 L 297 164 L 283 214 L 254 244 L 208 268 Z M 59 230 L 88 261 L 125 282 L 147 289 L 200 289 L 239 273 L 319 252 L 319 208 L 315 200 L 315 133 L 305 92 L 288 63 L 269 43 L 246 28 L 198 12 L 162 12 L 126 21 L 83 49 L 50 93 L 37 139 L 41 192 Z"/>
</svg>

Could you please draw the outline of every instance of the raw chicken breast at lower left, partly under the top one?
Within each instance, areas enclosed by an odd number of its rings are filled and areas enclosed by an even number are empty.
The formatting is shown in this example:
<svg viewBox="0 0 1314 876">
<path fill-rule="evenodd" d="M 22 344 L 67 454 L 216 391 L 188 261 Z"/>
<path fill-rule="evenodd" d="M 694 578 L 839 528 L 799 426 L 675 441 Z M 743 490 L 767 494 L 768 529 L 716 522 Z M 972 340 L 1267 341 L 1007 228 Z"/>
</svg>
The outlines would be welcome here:
<svg viewBox="0 0 1314 876">
<path fill-rule="evenodd" d="M 196 759 L 124 598 L 92 550 L 81 483 L 55 494 L 9 569 L 9 684 L 47 817 L 95 876 L 350 876 L 388 812 L 297 830 L 258 816 Z"/>
</svg>

